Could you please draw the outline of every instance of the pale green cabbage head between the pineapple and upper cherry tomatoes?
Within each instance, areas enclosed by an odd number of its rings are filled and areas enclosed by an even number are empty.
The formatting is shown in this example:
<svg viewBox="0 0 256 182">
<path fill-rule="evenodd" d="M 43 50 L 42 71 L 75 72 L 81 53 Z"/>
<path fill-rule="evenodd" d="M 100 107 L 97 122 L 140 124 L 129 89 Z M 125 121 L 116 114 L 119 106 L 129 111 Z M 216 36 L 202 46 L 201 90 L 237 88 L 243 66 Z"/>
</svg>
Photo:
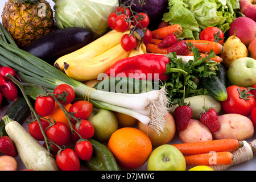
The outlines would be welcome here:
<svg viewBox="0 0 256 182">
<path fill-rule="evenodd" d="M 118 0 L 53 0 L 58 28 L 82 27 L 94 32 L 96 38 L 108 31 L 108 16 Z"/>
</svg>

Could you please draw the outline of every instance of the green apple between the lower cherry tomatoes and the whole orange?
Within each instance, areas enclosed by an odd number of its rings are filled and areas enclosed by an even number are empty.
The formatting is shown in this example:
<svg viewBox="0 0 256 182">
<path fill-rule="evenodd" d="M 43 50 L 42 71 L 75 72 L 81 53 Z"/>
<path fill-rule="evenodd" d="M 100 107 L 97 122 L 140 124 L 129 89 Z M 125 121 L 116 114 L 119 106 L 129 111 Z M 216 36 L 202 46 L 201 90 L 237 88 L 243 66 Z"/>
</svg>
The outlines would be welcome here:
<svg viewBox="0 0 256 182">
<path fill-rule="evenodd" d="M 87 119 L 94 127 L 93 138 L 98 142 L 107 142 L 118 129 L 117 117 L 113 111 L 93 107 L 92 114 Z"/>
</svg>

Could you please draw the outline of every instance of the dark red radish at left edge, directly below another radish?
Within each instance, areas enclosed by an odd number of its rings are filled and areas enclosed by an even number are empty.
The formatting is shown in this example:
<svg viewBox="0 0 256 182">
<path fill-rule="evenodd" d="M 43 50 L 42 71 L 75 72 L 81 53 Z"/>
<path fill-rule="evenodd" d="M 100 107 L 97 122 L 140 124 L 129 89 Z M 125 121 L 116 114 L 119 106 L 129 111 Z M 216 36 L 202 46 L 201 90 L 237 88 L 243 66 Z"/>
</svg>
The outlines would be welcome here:
<svg viewBox="0 0 256 182">
<path fill-rule="evenodd" d="M 16 85 L 11 80 L 7 80 L 6 82 L 9 84 L 10 89 L 7 88 L 7 86 L 2 86 L 0 87 L 0 92 L 3 94 L 3 97 L 7 98 L 8 100 L 16 101 L 18 96 Z"/>
</svg>

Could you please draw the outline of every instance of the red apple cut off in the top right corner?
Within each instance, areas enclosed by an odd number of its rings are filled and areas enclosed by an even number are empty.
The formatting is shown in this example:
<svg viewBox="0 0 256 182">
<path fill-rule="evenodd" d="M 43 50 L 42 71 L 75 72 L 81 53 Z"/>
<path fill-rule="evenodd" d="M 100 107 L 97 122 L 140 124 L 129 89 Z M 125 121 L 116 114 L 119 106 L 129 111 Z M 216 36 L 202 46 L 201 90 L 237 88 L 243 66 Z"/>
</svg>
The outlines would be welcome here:
<svg viewBox="0 0 256 182">
<path fill-rule="evenodd" d="M 256 21 L 256 1 L 255 0 L 240 0 L 240 13 L 248 18 Z"/>
</svg>

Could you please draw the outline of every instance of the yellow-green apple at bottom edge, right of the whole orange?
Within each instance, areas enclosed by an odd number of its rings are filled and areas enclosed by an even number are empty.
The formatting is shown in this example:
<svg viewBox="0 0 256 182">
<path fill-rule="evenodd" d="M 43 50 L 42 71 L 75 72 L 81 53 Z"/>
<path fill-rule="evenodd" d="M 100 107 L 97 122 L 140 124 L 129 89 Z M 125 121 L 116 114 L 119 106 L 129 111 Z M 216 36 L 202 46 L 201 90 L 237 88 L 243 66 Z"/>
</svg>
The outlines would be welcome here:
<svg viewBox="0 0 256 182">
<path fill-rule="evenodd" d="M 185 171 L 184 155 L 171 144 L 156 147 L 148 157 L 148 171 Z"/>
</svg>

